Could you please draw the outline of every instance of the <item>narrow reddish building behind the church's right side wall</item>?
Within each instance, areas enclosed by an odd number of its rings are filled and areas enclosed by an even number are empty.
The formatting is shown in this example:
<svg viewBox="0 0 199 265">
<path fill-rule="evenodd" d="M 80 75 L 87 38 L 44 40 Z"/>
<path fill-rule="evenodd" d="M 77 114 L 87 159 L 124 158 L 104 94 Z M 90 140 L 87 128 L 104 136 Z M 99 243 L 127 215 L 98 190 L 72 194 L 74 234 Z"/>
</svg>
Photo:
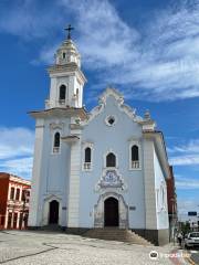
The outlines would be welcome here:
<svg viewBox="0 0 199 265">
<path fill-rule="evenodd" d="M 168 215 L 169 215 L 169 227 L 170 233 L 169 237 L 170 240 L 174 239 L 174 230 L 177 229 L 177 194 L 176 194 L 176 186 L 175 186 L 175 177 L 172 167 L 169 167 L 170 169 L 170 178 L 167 179 L 167 203 L 168 203 Z"/>
</svg>

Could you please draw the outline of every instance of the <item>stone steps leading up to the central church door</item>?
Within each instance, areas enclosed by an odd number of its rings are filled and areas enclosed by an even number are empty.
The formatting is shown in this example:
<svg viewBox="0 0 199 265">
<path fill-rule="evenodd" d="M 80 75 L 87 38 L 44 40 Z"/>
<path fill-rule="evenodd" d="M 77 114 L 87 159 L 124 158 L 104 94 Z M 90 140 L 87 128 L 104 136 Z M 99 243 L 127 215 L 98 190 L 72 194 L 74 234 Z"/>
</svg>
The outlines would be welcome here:
<svg viewBox="0 0 199 265">
<path fill-rule="evenodd" d="M 118 227 L 91 229 L 85 232 L 83 236 L 91 239 L 127 242 L 130 244 L 153 245 L 150 242 L 137 235 L 135 232 Z"/>
</svg>

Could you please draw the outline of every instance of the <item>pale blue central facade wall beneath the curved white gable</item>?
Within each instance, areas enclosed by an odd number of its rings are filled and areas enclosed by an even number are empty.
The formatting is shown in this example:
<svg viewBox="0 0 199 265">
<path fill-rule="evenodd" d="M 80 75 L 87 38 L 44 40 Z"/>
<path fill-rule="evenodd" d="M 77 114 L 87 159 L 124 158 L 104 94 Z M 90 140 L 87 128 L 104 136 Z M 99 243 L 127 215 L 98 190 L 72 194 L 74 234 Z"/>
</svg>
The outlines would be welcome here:
<svg viewBox="0 0 199 265">
<path fill-rule="evenodd" d="M 105 124 L 108 115 L 116 116 L 116 124 L 109 127 Z M 135 206 L 129 211 L 129 227 L 145 229 L 145 200 L 144 200 L 144 174 L 142 170 L 129 170 L 129 142 L 130 139 L 140 140 L 142 126 L 133 121 L 124 112 L 118 109 L 117 102 L 109 96 L 104 110 L 85 126 L 82 140 L 93 142 L 93 170 L 81 173 L 80 190 L 80 226 L 93 227 L 94 205 L 97 203 L 100 193 L 95 186 L 102 177 L 104 169 L 104 155 L 113 150 L 118 158 L 118 172 L 125 180 L 127 191 L 118 190 L 123 194 L 125 203 Z M 140 149 L 143 160 L 143 149 Z M 82 157 L 83 161 L 83 157 Z M 102 191 L 106 192 L 106 190 Z"/>
</svg>

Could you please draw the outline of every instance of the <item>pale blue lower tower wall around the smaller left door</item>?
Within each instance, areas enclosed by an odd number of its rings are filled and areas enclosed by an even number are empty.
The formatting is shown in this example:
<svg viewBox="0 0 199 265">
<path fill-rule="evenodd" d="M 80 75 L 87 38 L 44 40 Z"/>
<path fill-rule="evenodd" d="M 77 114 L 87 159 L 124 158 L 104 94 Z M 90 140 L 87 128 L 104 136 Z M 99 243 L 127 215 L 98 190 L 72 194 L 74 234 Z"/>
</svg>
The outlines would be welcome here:
<svg viewBox="0 0 199 265">
<path fill-rule="evenodd" d="M 56 130 L 61 136 L 70 134 L 70 118 L 46 118 L 42 129 L 42 136 L 36 137 L 36 145 L 34 151 L 33 179 L 32 179 L 32 194 L 30 209 L 31 226 L 41 226 L 48 223 L 49 214 L 46 205 L 49 205 L 50 198 L 59 198 L 62 203 L 62 211 L 60 213 L 60 224 L 66 226 L 69 202 L 69 173 L 70 173 L 70 152 L 71 148 L 64 142 L 61 142 L 61 152 L 53 153 L 53 136 Z M 52 126 L 53 125 L 53 126 Z M 54 127 L 54 128 L 53 128 Z M 48 203 L 46 203 L 48 201 Z"/>
</svg>

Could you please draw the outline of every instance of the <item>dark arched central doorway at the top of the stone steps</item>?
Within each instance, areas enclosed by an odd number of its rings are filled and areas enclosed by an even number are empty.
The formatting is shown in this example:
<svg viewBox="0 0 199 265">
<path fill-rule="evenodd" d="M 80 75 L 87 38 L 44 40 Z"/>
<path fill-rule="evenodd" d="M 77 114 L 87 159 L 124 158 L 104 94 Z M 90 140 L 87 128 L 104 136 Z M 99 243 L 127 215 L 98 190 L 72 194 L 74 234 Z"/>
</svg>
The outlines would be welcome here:
<svg viewBox="0 0 199 265">
<path fill-rule="evenodd" d="M 118 200 L 113 197 L 104 201 L 104 226 L 118 226 Z"/>
</svg>

